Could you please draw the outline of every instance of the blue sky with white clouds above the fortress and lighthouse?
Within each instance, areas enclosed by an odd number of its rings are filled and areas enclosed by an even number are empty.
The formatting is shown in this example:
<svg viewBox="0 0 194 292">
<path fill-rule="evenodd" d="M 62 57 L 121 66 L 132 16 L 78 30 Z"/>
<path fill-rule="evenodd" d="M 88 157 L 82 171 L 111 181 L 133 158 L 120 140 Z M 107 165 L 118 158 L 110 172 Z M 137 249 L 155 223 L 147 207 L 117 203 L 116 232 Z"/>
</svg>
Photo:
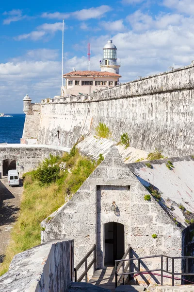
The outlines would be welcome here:
<svg viewBox="0 0 194 292">
<path fill-rule="evenodd" d="M 22 99 L 58 95 L 64 72 L 100 70 L 102 48 L 117 46 L 121 82 L 181 67 L 194 59 L 194 0 L 10 0 L 0 6 L 0 112 L 19 113 Z"/>
</svg>

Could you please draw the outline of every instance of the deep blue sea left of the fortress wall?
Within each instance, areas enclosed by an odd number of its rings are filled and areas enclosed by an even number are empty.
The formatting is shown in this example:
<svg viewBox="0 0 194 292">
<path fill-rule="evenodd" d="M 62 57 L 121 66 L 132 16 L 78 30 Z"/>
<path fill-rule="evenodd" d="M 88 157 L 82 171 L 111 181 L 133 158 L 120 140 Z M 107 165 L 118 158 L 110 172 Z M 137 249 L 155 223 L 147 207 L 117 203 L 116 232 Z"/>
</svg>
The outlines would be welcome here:
<svg viewBox="0 0 194 292">
<path fill-rule="evenodd" d="M 10 115 L 10 117 L 0 117 L 0 143 L 20 143 L 25 114 L 5 113 L 5 115 Z"/>
</svg>

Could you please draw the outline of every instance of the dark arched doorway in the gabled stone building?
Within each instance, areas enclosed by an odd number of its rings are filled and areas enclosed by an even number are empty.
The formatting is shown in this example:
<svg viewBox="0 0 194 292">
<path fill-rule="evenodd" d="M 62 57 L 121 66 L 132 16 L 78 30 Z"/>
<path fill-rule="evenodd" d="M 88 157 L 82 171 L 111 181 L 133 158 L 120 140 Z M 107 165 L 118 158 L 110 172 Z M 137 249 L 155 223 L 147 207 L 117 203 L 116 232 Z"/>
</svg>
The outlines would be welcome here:
<svg viewBox="0 0 194 292">
<path fill-rule="evenodd" d="M 104 225 L 104 265 L 114 265 L 114 261 L 125 254 L 124 225 L 109 222 Z"/>
</svg>

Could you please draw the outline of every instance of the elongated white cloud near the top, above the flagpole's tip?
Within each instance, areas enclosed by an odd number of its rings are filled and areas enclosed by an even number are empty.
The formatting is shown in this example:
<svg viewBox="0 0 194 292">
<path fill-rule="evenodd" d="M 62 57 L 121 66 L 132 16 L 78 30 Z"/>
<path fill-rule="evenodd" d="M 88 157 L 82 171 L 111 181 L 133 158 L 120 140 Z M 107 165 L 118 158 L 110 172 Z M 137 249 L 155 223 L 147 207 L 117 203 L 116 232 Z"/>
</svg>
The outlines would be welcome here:
<svg viewBox="0 0 194 292">
<path fill-rule="evenodd" d="M 71 13 L 48 13 L 45 12 L 42 14 L 43 18 L 50 19 L 67 19 L 67 18 L 77 18 L 79 20 L 87 20 L 91 18 L 101 18 L 105 13 L 111 11 L 112 8 L 108 5 L 101 5 L 99 7 L 91 7 L 89 9 L 82 9 Z"/>
</svg>

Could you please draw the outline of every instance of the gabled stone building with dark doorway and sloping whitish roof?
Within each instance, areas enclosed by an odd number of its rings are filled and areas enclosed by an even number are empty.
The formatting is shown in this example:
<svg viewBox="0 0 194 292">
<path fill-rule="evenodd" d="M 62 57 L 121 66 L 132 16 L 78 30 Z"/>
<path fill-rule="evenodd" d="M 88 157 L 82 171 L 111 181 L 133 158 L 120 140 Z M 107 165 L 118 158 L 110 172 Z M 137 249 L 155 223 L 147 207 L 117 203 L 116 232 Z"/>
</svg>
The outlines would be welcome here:
<svg viewBox="0 0 194 292">
<path fill-rule="evenodd" d="M 173 169 L 165 160 L 150 162 L 152 168 L 143 162 L 124 164 L 112 148 L 71 200 L 42 222 L 42 242 L 72 237 L 76 265 L 96 244 L 97 269 L 113 265 L 129 245 L 135 257 L 193 255 L 189 220 L 194 217 L 194 159 L 171 161 Z M 147 259 L 142 268 L 156 269 L 160 261 Z M 181 270 L 178 260 L 175 267 Z M 149 281 L 159 282 L 154 275 Z"/>
</svg>

